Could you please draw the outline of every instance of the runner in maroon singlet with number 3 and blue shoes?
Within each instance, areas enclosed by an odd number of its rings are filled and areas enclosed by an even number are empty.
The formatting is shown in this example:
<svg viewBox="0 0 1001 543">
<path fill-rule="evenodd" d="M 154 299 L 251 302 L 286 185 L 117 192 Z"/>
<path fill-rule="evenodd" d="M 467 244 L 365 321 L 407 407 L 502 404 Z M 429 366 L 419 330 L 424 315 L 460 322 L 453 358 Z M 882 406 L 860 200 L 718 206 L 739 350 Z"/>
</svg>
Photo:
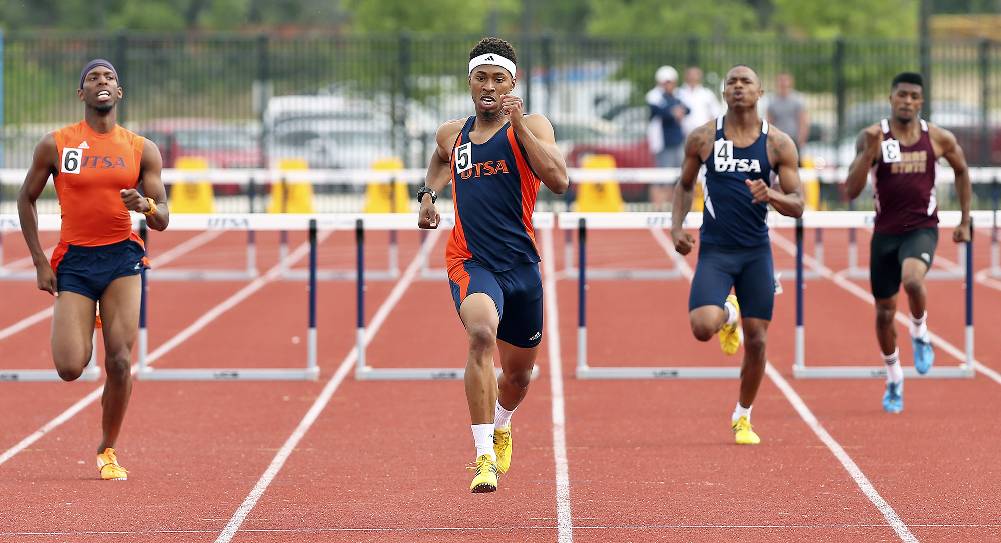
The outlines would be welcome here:
<svg viewBox="0 0 1001 543">
<path fill-rule="evenodd" d="M 897 295 L 901 284 L 911 309 L 911 345 L 914 367 L 927 373 L 935 363 L 928 336 L 928 291 L 925 275 L 938 247 L 938 182 L 935 169 L 946 159 L 956 175 L 956 197 L 962 219 L 952 232 L 956 243 L 968 242 L 970 230 L 970 172 L 956 136 L 918 117 L 924 105 L 925 81 L 921 74 L 904 72 L 890 85 L 889 119 L 859 133 L 858 151 L 848 170 L 845 186 L 857 198 L 873 178 L 876 224 L 871 243 L 869 282 L 876 298 L 876 338 L 879 340 L 887 383 L 883 409 L 904 409 L 904 371 L 897 349 Z"/>
</svg>

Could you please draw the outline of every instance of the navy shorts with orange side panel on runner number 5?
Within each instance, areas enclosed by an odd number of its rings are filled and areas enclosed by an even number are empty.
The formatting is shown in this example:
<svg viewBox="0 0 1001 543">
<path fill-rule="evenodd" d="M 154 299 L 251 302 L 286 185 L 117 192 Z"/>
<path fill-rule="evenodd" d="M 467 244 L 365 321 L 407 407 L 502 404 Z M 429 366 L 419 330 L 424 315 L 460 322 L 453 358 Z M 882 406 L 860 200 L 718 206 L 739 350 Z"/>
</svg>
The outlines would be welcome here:
<svg viewBox="0 0 1001 543">
<path fill-rule="evenodd" d="M 465 260 L 448 273 L 455 311 L 469 294 L 481 292 L 496 305 L 497 339 L 522 349 L 543 340 L 543 278 L 539 264 L 527 262 L 494 272 L 475 260 Z"/>
</svg>

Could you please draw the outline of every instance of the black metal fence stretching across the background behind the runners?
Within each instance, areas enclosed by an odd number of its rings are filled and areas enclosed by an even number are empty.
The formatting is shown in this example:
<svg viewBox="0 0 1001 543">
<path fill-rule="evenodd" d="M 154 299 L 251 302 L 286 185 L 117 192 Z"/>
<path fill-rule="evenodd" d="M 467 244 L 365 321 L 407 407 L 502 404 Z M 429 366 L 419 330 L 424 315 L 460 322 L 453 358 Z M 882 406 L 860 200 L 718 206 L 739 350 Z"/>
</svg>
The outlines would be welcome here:
<svg viewBox="0 0 1001 543">
<path fill-rule="evenodd" d="M 77 122 L 79 70 L 111 61 L 124 98 L 119 123 L 150 137 L 167 167 L 365 168 L 398 157 L 419 168 L 437 126 L 472 112 L 466 59 L 479 37 L 282 34 L 3 36 L 0 168 L 24 168 L 38 139 Z M 510 38 L 517 92 L 546 114 L 572 166 L 610 153 L 652 165 L 644 95 L 659 66 L 699 66 L 719 89 L 736 63 L 760 74 L 766 99 L 788 72 L 804 94 L 811 141 L 803 155 L 847 166 L 858 131 L 889 113 L 890 81 L 926 76 L 923 117 L 956 133 L 973 166 L 1001 165 L 1001 45 L 989 41 L 776 41 L 748 38 Z M 523 75 L 526 74 L 526 75 Z M 836 195 L 828 195 L 836 198 Z"/>
</svg>

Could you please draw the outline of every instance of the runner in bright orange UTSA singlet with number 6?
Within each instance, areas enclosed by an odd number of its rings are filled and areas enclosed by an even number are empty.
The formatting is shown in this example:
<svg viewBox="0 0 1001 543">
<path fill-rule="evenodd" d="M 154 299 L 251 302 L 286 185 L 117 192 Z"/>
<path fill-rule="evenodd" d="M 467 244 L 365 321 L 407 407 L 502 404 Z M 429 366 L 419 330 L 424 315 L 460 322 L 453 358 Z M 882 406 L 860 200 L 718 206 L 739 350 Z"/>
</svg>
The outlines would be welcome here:
<svg viewBox="0 0 1001 543">
<path fill-rule="evenodd" d="M 76 380 L 90 360 L 96 304 L 101 304 L 107 380 L 97 467 L 102 479 L 124 481 L 127 472 L 118 465 L 114 448 L 132 392 L 129 365 L 139 329 L 139 274 L 148 268 L 129 212 L 142 213 L 150 228 L 163 230 L 169 222 L 167 195 L 156 146 L 115 124 L 122 89 L 111 63 L 87 64 L 76 93 L 84 103 L 84 120 L 38 142 L 17 195 L 17 213 L 38 289 L 55 297 L 52 360 L 64 381 Z M 50 175 L 62 213 L 51 262 L 38 241 L 35 208 Z M 143 193 L 137 190 L 140 183 Z"/>
</svg>

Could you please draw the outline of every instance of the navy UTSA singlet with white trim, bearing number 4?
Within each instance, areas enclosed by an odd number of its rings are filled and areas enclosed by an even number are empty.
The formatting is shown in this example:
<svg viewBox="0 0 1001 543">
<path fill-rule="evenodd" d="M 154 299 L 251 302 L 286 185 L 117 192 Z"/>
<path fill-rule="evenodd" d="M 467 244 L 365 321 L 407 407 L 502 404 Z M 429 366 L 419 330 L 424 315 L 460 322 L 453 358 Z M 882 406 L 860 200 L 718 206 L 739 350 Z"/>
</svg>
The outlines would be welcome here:
<svg viewBox="0 0 1001 543">
<path fill-rule="evenodd" d="M 768 240 L 768 204 L 754 199 L 746 180 L 762 179 L 772 186 L 768 160 L 768 121 L 761 121 L 761 136 L 750 147 L 735 147 L 723 132 L 723 117 L 716 120 L 713 152 L 706 159 L 705 207 L 699 240 L 730 247 L 756 247 Z"/>
</svg>

